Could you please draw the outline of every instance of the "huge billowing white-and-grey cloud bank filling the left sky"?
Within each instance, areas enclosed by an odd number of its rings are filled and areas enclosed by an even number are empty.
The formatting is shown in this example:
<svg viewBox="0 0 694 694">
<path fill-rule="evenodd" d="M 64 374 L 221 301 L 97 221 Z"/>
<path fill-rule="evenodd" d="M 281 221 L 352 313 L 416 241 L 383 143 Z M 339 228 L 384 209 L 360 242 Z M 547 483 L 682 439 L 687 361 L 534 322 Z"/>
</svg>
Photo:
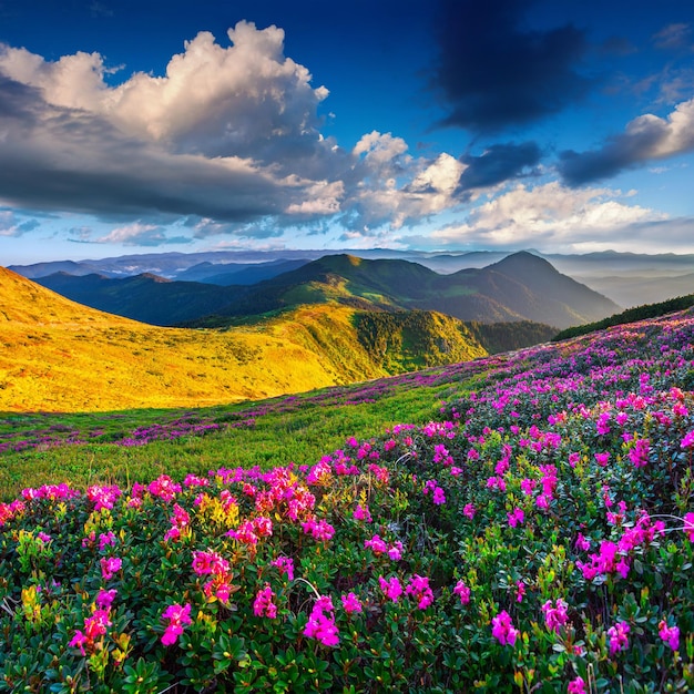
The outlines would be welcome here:
<svg viewBox="0 0 694 694">
<path fill-rule="evenodd" d="M 201 32 L 165 74 L 118 84 L 99 53 L 49 61 L 0 44 L 0 201 L 116 224 L 214 221 L 182 227 L 192 237 L 326 218 L 399 227 L 456 204 L 463 165 L 450 155 L 415 157 L 377 131 L 351 150 L 323 136 L 328 91 L 284 55 L 282 29 L 242 21 L 228 39 Z M 169 241 L 124 228 L 99 241 Z"/>
</svg>

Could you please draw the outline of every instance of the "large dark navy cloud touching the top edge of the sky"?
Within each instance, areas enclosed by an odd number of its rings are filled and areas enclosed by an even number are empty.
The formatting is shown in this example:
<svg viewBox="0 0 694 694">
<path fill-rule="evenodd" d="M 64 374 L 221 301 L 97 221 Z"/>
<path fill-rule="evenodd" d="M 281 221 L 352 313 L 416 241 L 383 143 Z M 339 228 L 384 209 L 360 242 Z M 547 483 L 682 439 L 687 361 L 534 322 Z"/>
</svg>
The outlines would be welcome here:
<svg viewBox="0 0 694 694">
<path fill-rule="evenodd" d="M 441 0 L 433 88 L 448 115 L 442 125 L 494 132 L 557 113 L 590 86 L 576 68 L 584 32 L 521 27 L 529 0 Z"/>
</svg>

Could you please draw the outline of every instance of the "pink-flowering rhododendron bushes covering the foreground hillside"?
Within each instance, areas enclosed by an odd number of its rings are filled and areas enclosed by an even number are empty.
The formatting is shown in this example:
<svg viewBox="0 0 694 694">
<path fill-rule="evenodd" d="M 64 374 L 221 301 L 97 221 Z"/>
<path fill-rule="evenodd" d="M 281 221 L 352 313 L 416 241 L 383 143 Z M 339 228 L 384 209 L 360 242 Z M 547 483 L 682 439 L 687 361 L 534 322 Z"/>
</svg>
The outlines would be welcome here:
<svg viewBox="0 0 694 694">
<path fill-rule="evenodd" d="M 480 364 L 312 466 L 0 504 L 0 690 L 694 690 L 694 318 Z"/>
</svg>

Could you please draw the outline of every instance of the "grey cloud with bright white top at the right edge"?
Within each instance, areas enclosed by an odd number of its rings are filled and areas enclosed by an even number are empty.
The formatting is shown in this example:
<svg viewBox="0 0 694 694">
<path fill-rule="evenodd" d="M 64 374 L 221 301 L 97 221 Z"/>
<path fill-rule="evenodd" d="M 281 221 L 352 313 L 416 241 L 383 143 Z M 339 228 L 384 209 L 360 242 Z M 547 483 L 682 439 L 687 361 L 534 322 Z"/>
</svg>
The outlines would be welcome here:
<svg viewBox="0 0 694 694">
<path fill-rule="evenodd" d="M 582 185 L 620 172 L 694 150 L 694 99 L 683 101 L 667 118 L 651 113 L 631 121 L 602 147 L 562 152 L 559 172 L 569 185 Z"/>
</svg>

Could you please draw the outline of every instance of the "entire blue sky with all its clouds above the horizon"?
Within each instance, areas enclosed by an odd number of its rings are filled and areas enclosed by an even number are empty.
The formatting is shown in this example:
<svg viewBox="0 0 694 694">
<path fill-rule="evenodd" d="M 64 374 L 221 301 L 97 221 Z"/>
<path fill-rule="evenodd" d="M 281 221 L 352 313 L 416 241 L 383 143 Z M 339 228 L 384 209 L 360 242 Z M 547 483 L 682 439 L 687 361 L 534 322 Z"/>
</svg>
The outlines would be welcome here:
<svg viewBox="0 0 694 694">
<path fill-rule="evenodd" d="M 0 0 L 0 264 L 694 253 L 691 0 Z"/>
</svg>

